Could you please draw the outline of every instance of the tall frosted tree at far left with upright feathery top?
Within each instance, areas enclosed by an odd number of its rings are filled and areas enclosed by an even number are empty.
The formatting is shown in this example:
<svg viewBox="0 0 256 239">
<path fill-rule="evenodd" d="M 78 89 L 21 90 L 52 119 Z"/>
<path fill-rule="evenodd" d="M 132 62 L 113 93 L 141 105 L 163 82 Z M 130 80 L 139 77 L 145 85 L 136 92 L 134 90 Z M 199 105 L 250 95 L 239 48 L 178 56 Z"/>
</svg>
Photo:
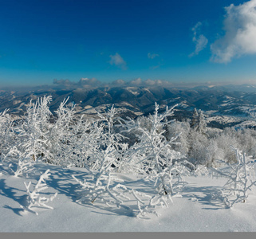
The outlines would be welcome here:
<svg viewBox="0 0 256 239">
<path fill-rule="evenodd" d="M 35 103 L 30 100 L 26 116 L 16 122 L 15 126 L 8 118 L 6 139 L 8 138 L 9 145 L 3 159 L 11 161 L 10 170 L 16 177 L 33 170 L 33 163 L 39 158 L 43 159 L 49 152 L 50 101 L 51 96 L 38 98 Z M 10 131 L 12 135 L 8 136 Z"/>
</svg>

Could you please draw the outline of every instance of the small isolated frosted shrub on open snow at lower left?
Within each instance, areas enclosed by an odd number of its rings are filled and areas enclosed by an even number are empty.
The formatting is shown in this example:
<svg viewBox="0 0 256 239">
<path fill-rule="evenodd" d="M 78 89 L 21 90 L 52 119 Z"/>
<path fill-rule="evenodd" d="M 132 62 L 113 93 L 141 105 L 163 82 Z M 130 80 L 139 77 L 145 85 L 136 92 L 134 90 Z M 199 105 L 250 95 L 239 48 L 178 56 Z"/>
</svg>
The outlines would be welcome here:
<svg viewBox="0 0 256 239">
<path fill-rule="evenodd" d="M 53 207 L 47 205 L 46 203 L 53 201 L 53 199 L 56 198 L 57 193 L 53 194 L 48 198 L 46 198 L 45 196 L 41 197 L 40 195 L 42 190 L 45 190 L 48 188 L 48 186 L 46 186 L 45 179 L 48 179 L 49 175 L 50 175 L 49 170 L 46 170 L 44 174 L 41 174 L 37 182 L 37 185 L 34 186 L 34 189 L 32 192 L 30 192 L 31 182 L 29 182 L 28 185 L 26 184 L 26 182 L 24 182 L 26 186 L 26 192 L 28 194 L 28 202 L 26 206 L 21 206 L 23 209 L 28 210 L 33 214 L 37 214 L 37 212 L 31 210 L 31 208 L 35 206 L 45 207 L 53 210 Z"/>
</svg>

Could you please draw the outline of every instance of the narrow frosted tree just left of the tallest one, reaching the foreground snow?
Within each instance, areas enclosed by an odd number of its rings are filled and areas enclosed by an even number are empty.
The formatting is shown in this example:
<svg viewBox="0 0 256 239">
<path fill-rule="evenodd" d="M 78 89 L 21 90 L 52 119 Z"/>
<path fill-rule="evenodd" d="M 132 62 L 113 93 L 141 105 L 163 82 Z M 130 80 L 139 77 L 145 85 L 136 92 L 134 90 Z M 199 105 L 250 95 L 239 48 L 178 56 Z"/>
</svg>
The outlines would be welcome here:
<svg viewBox="0 0 256 239">
<path fill-rule="evenodd" d="M 94 203 L 96 200 L 103 200 L 107 204 L 122 206 L 119 198 L 121 194 L 116 193 L 115 185 L 112 186 L 115 179 L 111 172 L 118 167 L 118 160 L 121 159 L 127 145 L 120 143 L 123 135 L 113 131 L 116 116 L 114 106 L 105 115 L 98 113 L 98 116 L 100 122 L 96 126 L 100 129 L 100 135 L 94 137 L 98 146 L 95 147 L 96 144 L 94 144 L 94 148 L 89 153 L 89 180 L 87 183 L 81 183 L 73 176 L 83 186 L 79 202 Z"/>
</svg>

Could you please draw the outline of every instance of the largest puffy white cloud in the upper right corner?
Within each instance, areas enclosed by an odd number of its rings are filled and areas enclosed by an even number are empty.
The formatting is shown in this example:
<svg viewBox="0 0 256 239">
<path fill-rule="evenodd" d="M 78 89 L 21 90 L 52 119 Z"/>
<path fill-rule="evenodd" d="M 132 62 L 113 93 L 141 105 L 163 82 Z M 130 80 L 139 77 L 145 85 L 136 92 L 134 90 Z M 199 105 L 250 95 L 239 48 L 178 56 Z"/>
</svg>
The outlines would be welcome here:
<svg viewBox="0 0 256 239">
<path fill-rule="evenodd" d="M 211 61 L 230 62 L 234 57 L 256 53 L 256 0 L 226 8 L 225 35 L 211 45 Z"/>
</svg>

